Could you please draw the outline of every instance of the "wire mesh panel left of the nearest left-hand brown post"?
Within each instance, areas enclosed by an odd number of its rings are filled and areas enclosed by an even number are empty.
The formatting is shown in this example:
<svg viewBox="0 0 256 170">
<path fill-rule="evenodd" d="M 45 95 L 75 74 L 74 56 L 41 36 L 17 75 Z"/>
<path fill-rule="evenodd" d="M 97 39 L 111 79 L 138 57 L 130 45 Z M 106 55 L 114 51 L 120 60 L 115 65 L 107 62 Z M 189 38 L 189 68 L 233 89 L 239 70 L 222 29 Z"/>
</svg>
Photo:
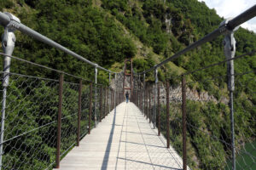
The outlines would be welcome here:
<svg viewBox="0 0 256 170">
<path fill-rule="evenodd" d="M 55 161 L 59 82 L 12 73 L 9 76 L 2 132 L 3 169 L 48 167 Z"/>
</svg>

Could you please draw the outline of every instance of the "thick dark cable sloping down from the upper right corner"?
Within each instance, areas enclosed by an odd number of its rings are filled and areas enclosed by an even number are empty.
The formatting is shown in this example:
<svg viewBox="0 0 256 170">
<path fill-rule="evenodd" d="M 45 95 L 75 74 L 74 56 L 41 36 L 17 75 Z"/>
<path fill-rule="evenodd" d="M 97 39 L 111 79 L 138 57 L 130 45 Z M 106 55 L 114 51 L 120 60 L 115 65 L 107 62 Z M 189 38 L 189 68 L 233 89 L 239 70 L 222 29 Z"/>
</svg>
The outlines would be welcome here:
<svg viewBox="0 0 256 170">
<path fill-rule="evenodd" d="M 246 22 L 247 20 L 252 19 L 254 16 L 256 16 L 256 5 L 253 5 L 253 7 L 248 8 L 245 12 L 237 15 L 234 19 L 230 20 L 227 24 L 224 24 L 223 26 L 219 26 L 218 29 L 207 34 L 207 36 L 202 37 L 200 40 L 192 43 L 187 48 L 184 48 L 183 50 L 177 52 L 177 54 L 172 55 L 172 57 L 165 59 L 164 61 L 160 62 L 157 65 L 154 65 L 154 67 L 151 67 L 146 71 L 138 72 L 137 74 L 144 74 L 149 71 L 153 71 L 154 69 L 157 69 L 158 67 L 166 64 L 167 62 L 171 61 L 172 59 L 176 59 L 177 57 L 181 56 L 182 54 L 185 54 L 188 51 L 201 46 L 203 43 L 212 41 L 213 38 L 224 34 L 226 31 L 232 31 L 233 29 L 236 28 L 236 26 L 240 26 L 242 23 Z"/>
</svg>

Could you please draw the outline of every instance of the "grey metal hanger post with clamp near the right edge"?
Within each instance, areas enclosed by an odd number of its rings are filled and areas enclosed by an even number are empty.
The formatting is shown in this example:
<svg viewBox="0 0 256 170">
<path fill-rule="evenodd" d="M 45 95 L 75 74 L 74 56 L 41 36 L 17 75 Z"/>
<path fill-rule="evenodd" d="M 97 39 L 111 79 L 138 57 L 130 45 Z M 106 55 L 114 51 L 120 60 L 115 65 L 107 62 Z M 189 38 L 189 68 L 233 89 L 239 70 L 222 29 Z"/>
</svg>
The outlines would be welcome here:
<svg viewBox="0 0 256 170">
<path fill-rule="evenodd" d="M 230 19 L 224 20 L 220 26 L 225 26 L 229 23 Z M 226 59 L 233 59 L 236 54 L 236 40 L 234 37 L 234 30 L 226 31 L 224 37 L 224 54 Z M 235 147 L 235 123 L 234 123 L 234 105 L 233 105 L 233 92 L 235 90 L 235 75 L 234 75 L 234 60 L 227 61 L 227 77 L 228 88 L 230 91 L 230 127 L 231 127 L 231 150 L 232 150 L 232 169 L 236 170 L 236 147 Z"/>
</svg>

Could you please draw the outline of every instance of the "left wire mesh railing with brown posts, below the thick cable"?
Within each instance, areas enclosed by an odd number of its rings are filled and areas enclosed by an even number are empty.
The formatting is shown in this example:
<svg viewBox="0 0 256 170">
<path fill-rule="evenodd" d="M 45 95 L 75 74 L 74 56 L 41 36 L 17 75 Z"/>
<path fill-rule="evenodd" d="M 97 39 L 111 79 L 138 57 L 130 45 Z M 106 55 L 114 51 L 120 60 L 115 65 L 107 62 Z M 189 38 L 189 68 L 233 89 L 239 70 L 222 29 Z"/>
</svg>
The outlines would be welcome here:
<svg viewBox="0 0 256 170">
<path fill-rule="evenodd" d="M 13 63 L 22 63 L 23 68 L 29 66 L 32 71 L 41 67 L 45 70 L 42 75 L 55 78 L 1 72 L 2 77 L 9 76 L 6 96 L 1 96 L 2 113 L 5 112 L 4 119 L 1 119 L 4 127 L 1 131 L 4 137 L 1 142 L 2 169 L 58 167 L 61 158 L 74 145 L 79 145 L 79 140 L 95 126 L 94 116 L 98 123 L 113 109 L 113 89 L 44 65 L 10 57 L 15 59 Z M 35 73 L 40 74 L 38 71 Z M 55 75 L 65 75 L 64 81 L 61 82 Z M 2 94 L 5 89 L 2 88 Z M 58 121 L 60 113 L 61 120 Z"/>
</svg>

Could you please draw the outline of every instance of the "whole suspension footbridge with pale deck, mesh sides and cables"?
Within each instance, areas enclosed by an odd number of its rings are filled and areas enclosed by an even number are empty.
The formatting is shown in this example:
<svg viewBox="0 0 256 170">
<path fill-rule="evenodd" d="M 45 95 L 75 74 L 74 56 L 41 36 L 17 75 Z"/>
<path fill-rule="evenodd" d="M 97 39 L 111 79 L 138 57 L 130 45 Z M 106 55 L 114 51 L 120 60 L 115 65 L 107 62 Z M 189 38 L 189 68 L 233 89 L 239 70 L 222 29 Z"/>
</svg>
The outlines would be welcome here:
<svg viewBox="0 0 256 170">
<path fill-rule="evenodd" d="M 209 148 L 203 153 L 205 159 L 214 157 L 218 161 L 211 165 L 206 161 L 203 169 L 216 169 L 214 166 L 233 170 L 255 169 L 255 145 L 249 143 L 249 150 L 239 145 L 235 133 L 241 128 L 236 121 L 247 127 L 247 122 L 255 120 L 253 116 L 249 116 L 249 120 L 234 118 L 234 103 L 239 103 L 236 94 L 240 93 L 236 92 L 235 84 L 236 87 L 246 87 L 247 84 L 242 84 L 241 80 L 247 75 L 252 76 L 251 81 L 255 82 L 255 71 L 234 71 L 236 59 L 255 54 L 251 51 L 235 56 L 234 33 L 237 26 L 255 15 L 256 5 L 233 19 L 224 20 L 206 37 L 148 70 L 136 72 L 132 59 L 125 59 L 123 70 L 114 72 L 33 31 L 15 15 L 0 12 L 0 24 L 4 26 L 3 53 L 0 53 L 4 65 L 1 72 L 1 169 L 192 169 L 190 165 L 193 166 L 198 160 L 188 156 L 189 152 L 195 151 L 188 141 L 191 134 L 203 135 Z M 93 66 L 95 81 L 13 56 L 15 31 Z M 172 86 L 168 77 L 166 82 L 159 82 L 161 66 L 221 35 L 224 35 L 225 60 L 184 73 L 180 76 L 178 87 Z M 57 77 L 11 72 L 11 60 L 26 67 L 52 72 Z M 227 95 L 216 99 L 207 92 L 198 94 L 190 88 L 193 87 L 191 84 L 200 81 L 193 82 L 189 76 L 224 64 L 228 68 L 226 75 L 201 82 L 228 77 L 225 82 Z M 108 73 L 109 86 L 97 82 L 98 71 Z M 154 83 L 147 82 L 150 72 L 154 74 Z M 126 92 L 130 95 L 127 103 Z M 192 113 L 195 116 L 203 113 L 195 113 L 193 107 L 188 106 L 195 101 L 226 105 L 228 114 L 212 116 L 209 118 L 211 126 L 203 127 L 201 122 L 193 122 L 195 117 L 192 116 Z M 221 124 L 221 134 L 211 131 L 216 124 Z M 206 129 L 210 129 L 211 133 Z M 251 139 L 255 138 L 253 127 L 247 127 L 247 132 L 251 134 Z M 219 154 L 216 144 L 224 145 L 224 154 Z M 243 161 L 236 161 L 237 157 Z M 250 159 L 251 163 L 245 159 Z"/>
</svg>

